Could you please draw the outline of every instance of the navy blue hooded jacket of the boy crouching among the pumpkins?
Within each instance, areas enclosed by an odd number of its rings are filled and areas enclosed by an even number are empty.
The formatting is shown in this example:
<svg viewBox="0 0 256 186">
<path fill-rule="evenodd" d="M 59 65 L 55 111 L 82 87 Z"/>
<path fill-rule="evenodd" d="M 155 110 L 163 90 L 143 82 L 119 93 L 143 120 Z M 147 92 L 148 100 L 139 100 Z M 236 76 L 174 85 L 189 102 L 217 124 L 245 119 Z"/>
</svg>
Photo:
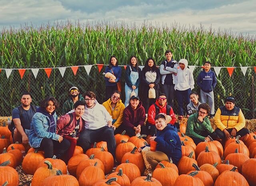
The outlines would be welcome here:
<svg viewBox="0 0 256 186">
<path fill-rule="evenodd" d="M 156 133 L 154 141 L 157 142 L 156 151 L 165 153 L 177 164 L 181 158 L 181 143 L 178 133 L 173 125 L 167 125 L 162 131 Z"/>
</svg>

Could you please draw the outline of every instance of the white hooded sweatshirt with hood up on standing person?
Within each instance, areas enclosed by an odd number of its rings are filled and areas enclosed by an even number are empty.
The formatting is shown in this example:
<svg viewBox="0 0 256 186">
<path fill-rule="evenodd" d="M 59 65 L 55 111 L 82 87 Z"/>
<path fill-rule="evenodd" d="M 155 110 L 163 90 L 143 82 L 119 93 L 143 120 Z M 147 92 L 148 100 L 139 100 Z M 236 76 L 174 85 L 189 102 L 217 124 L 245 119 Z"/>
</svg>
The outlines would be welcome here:
<svg viewBox="0 0 256 186">
<path fill-rule="evenodd" d="M 180 63 L 183 63 L 185 65 L 184 70 L 182 70 L 180 67 L 177 69 L 177 74 L 174 78 L 175 90 L 188 90 L 191 88 L 191 90 L 194 88 L 194 77 L 193 73 L 188 69 L 188 61 L 186 59 L 181 59 L 178 63 L 178 66 Z"/>
</svg>

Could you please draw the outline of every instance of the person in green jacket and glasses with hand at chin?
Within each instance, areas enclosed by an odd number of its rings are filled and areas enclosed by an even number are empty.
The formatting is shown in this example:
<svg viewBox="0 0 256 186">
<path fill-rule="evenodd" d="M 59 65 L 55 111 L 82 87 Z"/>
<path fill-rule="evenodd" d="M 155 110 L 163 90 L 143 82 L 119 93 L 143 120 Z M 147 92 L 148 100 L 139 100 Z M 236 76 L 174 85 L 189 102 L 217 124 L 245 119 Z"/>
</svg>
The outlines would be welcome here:
<svg viewBox="0 0 256 186">
<path fill-rule="evenodd" d="M 209 112 L 210 106 L 203 103 L 198 106 L 198 112 L 188 118 L 186 135 L 191 137 L 196 145 L 202 141 L 210 141 L 208 136 L 212 139 L 216 139 L 217 137 L 207 117 Z"/>
</svg>

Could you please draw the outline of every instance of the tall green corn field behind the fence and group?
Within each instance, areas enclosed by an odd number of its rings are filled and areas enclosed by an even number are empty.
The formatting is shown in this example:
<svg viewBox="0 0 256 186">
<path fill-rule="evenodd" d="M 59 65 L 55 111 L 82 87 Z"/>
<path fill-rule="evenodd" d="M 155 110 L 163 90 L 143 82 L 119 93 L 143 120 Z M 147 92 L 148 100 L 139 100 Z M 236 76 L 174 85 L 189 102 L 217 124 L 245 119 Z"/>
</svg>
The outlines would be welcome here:
<svg viewBox="0 0 256 186">
<path fill-rule="evenodd" d="M 256 42 L 249 36 L 207 31 L 203 27 L 186 29 L 175 24 L 154 27 L 150 24 L 66 23 L 3 29 L 0 35 L 0 69 L 107 65 L 111 55 L 116 55 L 119 65 L 127 65 L 132 55 L 138 57 L 139 65 L 144 65 L 148 57 L 153 57 L 160 65 L 168 49 L 173 52 L 176 61 L 185 58 L 189 65 L 194 66 L 201 66 L 204 61 L 211 61 L 215 67 L 256 66 Z M 13 70 L 9 78 L 2 70 L 0 115 L 11 115 L 12 108 L 20 104 L 20 94 L 24 90 L 32 93 L 34 104 L 51 95 L 56 96 L 62 106 L 68 98 L 68 89 L 78 86 L 80 92 L 95 91 L 97 100 L 102 103 L 105 95 L 104 68 L 99 73 L 93 66 L 87 75 L 86 70 L 80 67 L 76 76 L 67 68 L 63 78 L 57 69 L 52 70 L 50 78 L 44 70 L 39 70 L 37 78 L 31 70 L 26 70 L 22 79 L 18 70 Z M 195 81 L 200 70 L 194 70 Z M 124 86 L 123 67 L 122 76 Z M 246 118 L 255 118 L 255 76 L 253 68 L 248 68 L 245 76 L 240 68 L 236 68 L 231 77 L 223 68 L 214 90 L 215 108 L 223 105 L 225 96 L 232 95 L 237 98 L 236 105 L 242 108 Z M 195 90 L 200 92 L 198 86 Z M 176 104 L 174 111 L 175 107 Z"/>
</svg>

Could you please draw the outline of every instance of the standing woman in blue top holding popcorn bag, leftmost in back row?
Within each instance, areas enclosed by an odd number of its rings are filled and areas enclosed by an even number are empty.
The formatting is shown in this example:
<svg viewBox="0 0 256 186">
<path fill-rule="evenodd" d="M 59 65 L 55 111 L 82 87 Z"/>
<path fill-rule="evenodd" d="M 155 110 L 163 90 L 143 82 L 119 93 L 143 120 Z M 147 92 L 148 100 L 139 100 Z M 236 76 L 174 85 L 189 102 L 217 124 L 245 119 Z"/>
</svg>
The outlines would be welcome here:
<svg viewBox="0 0 256 186">
<path fill-rule="evenodd" d="M 106 100 L 110 98 L 112 95 L 112 92 L 117 90 L 117 82 L 120 82 L 121 80 L 121 75 L 122 75 L 122 70 L 121 67 L 118 66 L 118 60 L 116 56 L 112 55 L 109 59 L 109 65 L 105 69 L 105 73 L 110 72 L 114 76 L 116 76 L 116 79 L 111 79 L 111 78 L 106 78 Z"/>
</svg>

